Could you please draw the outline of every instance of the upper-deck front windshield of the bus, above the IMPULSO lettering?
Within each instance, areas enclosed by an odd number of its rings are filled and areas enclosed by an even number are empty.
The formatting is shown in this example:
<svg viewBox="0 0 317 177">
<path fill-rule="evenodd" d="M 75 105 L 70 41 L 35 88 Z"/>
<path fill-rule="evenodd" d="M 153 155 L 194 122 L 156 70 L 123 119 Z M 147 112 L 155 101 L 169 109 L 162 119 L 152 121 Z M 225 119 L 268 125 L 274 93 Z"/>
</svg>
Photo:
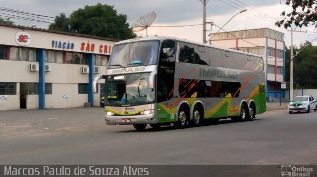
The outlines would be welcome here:
<svg viewBox="0 0 317 177">
<path fill-rule="evenodd" d="M 114 45 L 108 69 L 135 67 L 138 65 L 156 65 L 158 51 L 159 40 L 136 41 Z"/>
</svg>

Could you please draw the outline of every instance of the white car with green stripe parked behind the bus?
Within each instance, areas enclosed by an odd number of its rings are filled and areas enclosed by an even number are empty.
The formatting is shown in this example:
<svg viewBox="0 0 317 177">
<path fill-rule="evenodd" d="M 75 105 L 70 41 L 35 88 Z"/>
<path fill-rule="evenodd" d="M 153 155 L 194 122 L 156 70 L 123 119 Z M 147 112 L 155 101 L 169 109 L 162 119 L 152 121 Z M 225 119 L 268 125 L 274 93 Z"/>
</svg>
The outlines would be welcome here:
<svg viewBox="0 0 317 177">
<path fill-rule="evenodd" d="M 316 100 L 313 96 L 298 96 L 288 104 L 288 112 L 291 114 L 293 111 L 317 111 Z"/>
</svg>

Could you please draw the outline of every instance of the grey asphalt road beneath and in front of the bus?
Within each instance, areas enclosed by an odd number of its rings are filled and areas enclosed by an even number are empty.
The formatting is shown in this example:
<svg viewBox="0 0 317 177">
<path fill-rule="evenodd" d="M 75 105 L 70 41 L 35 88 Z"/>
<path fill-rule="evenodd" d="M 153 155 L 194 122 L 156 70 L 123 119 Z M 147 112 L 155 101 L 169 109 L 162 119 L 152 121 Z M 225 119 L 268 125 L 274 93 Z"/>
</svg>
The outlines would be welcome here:
<svg viewBox="0 0 317 177">
<path fill-rule="evenodd" d="M 175 129 L 107 126 L 101 107 L 0 111 L 0 164 L 317 165 L 317 112 Z"/>
</svg>

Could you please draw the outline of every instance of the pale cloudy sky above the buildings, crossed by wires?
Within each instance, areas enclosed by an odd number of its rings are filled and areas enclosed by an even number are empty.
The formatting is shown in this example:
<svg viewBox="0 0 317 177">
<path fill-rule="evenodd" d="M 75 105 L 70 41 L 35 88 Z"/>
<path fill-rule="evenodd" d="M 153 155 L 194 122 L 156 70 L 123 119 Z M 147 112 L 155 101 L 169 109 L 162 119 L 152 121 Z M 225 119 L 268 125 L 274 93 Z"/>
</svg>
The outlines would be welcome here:
<svg viewBox="0 0 317 177">
<path fill-rule="evenodd" d="M 55 17 L 65 13 L 68 17 L 73 11 L 84 8 L 85 5 L 97 3 L 113 5 L 118 14 L 127 15 L 127 23 L 132 25 L 145 14 L 155 12 L 156 19 L 146 30 L 136 32 L 138 36 L 165 35 L 189 40 L 203 41 L 203 0 L 0 0 L 0 8 L 10 8 L 45 16 Z M 291 45 L 289 29 L 276 27 L 274 23 L 285 17 L 283 11 L 291 12 L 291 7 L 285 5 L 285 0 L 206 0 L 206 22 L 216 26 L 206 25 L 206 40 L 209 33 L 215 33 L 219 27 L 223 30 L 239 31 L 258 28 L 269 28 L 284 33 L 285 45 Z M 238 15 L 240 10 L 247 9 Z M 7 13 L 0 10 L 0 17 L 6 18 Z M 236 16 L 234 16 L 236 15 Z M 234 17 L 233 17 L 234 16 Z M 233 18 L 232 18 L 233 17 Z M 231 19 L 232 18 L 232 19 Z M 231 20 L 230 20 L 231 19 Z M 34 22 L 11 18 L 15 25 L 29 26 L 35 24 L 38 28 L 48 29 L 49 23 Z M 46 20 L 48 21 L 48 20 Z M 174 26 L 174 27 L 169 27 Z M 179 26 L 179 27 L 175 27 Z M 218 26 L 218 27 L 217 27 Z M 317 45 L 317 30 L 314 26 L 297 28 L 293 32 L 293 45 L 299 46 L 306 40 Z M 224 32 L 220 30 L 219 32 Z"/>
</svg>

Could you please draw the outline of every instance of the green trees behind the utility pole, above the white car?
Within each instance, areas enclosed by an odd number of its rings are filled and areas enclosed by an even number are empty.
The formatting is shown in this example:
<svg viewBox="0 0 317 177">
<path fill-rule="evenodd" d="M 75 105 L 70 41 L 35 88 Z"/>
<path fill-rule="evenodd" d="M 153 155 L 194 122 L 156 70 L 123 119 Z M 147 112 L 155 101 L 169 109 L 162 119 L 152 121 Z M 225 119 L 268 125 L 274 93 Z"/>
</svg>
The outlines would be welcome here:
<svg viewBox="0 0 317 177">
<path fill-rule="evenodd" d="M 296 53 L 297 52 L 297 53 Z M 293 49 L 293 79 L 299 89 L 317 89 L 317 46 L 309 41 Z M 285 80 L 290 80 L 290 49 L 285 48 Z"/>
</svg>

